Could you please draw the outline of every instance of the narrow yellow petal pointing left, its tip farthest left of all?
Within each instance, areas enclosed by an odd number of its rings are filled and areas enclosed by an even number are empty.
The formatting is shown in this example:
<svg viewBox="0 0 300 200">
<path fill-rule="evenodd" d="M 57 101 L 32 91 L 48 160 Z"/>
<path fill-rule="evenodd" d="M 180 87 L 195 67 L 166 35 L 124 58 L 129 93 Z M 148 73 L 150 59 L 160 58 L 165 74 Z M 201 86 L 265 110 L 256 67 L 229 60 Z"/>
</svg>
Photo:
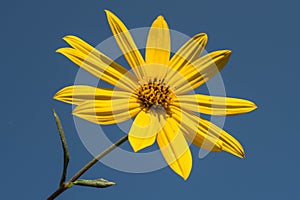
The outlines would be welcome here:
<svg viewBox="0 0 300 200">
<path fill-rule="evenodd" d="M 112 88 L 72 85 L 58 91 L 53 98 L 65 103 L 78 105 L 86 100 L 128 99 L 132 95 L 130 92 Z"/>
</svg>

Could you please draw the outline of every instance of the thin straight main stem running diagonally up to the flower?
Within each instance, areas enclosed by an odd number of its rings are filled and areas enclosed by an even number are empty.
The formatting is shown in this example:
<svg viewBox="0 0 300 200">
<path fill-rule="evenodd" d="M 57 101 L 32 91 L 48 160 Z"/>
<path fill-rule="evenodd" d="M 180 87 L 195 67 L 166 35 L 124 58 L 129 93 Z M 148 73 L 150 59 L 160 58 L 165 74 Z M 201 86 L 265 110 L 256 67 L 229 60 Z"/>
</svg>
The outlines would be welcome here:
<svg viewBox="0 0 300 200">
<path fill-rule="evenodd" d="M 51 196 L 48 197 L 48 200 L 55 199 L 58 197 L 61 193 L 66 191 L 70 186 L 72 186 L 73 182 L 76 181 L 82 174 L 84 174 L 88 169 L 90 169 L 94 164 L 96 164 L 101 158 L 106 156 L 109 152 L 114 150 L 116 147 L 120 146 L 124 142 L 128 140 L 128 136 L 122 137 L 120 140 L 118 140 L 116 143 L 112 144 L 110 147 L 102 151 L 100 154 L 98 154 L 95 158 L 93 158 L 89 163 L 87 163 L 81 170 L 79 170 L 67 183 L 64 183 L 60 185 L 60 187 L 53 193 Z"/>
</svg>

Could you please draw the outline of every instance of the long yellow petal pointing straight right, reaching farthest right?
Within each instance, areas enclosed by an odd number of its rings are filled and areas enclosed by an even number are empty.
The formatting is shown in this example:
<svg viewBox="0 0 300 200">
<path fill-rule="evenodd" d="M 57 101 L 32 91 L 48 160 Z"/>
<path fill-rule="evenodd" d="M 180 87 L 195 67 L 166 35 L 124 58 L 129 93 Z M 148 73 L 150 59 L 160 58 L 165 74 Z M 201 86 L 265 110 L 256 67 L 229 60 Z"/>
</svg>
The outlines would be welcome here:
<svg viewBox="0 0 300 200">
<path fill-rule="evenodd" d="M 178 95 L 174 105 L 208 115 L 237 115 L 250 112 L 257 106 L 248 100 L 202 94 Z"/>
</svg>

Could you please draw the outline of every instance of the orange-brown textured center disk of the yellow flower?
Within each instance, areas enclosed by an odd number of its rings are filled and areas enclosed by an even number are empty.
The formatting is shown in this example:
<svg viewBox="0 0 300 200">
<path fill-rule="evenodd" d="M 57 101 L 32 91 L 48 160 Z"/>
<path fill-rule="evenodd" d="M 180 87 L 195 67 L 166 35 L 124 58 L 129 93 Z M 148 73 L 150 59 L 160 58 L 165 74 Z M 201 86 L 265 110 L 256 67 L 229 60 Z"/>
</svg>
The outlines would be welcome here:
<svg viewBox="0 0 300 200">
<path fill-rule="evenodd" d="M 149 81 L 137 89 L 138 99 L 142 106 L 149 110 L 152 106 L 163 107 L 170 114 L 169 105 L 173 102 L 173 92 L 163 81 Z"/>
</svg>

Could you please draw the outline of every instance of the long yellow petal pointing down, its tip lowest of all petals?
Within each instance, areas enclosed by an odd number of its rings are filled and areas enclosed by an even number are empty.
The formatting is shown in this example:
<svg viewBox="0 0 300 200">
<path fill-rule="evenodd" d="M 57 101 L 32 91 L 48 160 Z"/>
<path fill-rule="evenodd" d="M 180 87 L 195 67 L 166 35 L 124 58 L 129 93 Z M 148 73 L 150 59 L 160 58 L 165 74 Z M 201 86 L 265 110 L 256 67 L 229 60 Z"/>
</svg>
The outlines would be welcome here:
<svg viewBox="0 0 300 200">
<path fill-rule="evenodd" d="M 186 180 L 192 169 L 192 155 L 173 118 L 167 118 L 163 130 L 157 135 L 157 143 L 171 169 Z"/>
</svg>

